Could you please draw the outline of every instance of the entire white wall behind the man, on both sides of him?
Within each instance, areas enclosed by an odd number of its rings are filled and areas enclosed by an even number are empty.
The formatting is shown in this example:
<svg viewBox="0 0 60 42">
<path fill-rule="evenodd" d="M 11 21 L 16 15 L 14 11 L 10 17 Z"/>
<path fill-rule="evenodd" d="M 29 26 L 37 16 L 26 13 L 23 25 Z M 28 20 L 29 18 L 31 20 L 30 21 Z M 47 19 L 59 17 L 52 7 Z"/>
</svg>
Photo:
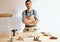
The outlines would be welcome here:
<svg viewBox="0 0 60 42">
<path fill-rule="evenodd" d="M 0 18 L 0 31 L 8 28 L 24 28 L 22 11 L 26 9 L 25 0 L 0 0 L 0 13 L 12 13 L 12 18 Z M 60 31 L 60 2 L 59 0 L 32 0 L 33 8 L 38 11 L 40 31 Z M 3 21 L 4 20 L 4 21 Z M 9 21 L 10 22 L 9 22 Z M 5 22 L 7 21 L 7 22 Z M 6 23 L 6 25 L 5 25 Z M 10 23 L 8 25 L 8 23 Z M 16 24 L 15 24 L 16 23 Z M 4 24 L 5 27 L 2 25 Z M 4 30 L 3 30 L 4 28 Z"/>
</svg>

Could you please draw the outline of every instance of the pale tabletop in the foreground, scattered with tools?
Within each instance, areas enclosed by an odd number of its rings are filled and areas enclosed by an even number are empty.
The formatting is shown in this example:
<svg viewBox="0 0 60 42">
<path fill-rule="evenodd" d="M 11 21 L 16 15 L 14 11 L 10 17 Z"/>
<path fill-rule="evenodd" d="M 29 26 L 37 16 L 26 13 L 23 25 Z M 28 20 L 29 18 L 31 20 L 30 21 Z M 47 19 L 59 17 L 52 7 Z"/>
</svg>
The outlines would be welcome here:
<svg viewBox="0 0 60 42">
<path fill-rule="evenodd" d="M 58 39 L 51 40 L 51 39 L 49 39 L 50 36 L 46 37 L 46 36 L 43 36 L 42 34 L 38 34 L 38 33 L 28 33 L 28 32 L 27 33 L 21 33 L 21 34 L 16 35 L 14 37 L 13 42 L 37 42 L 37 41 L 33 41 L 33 37 L 27 37 L 29 35 L 40 36 L 39 39 L 41 40 L 41 42 L 60 42 L 60 33 L 54 33 L 54 34 L 57 34 L 56 36 Z M 24 37 L 24 41 L 17 40 L 17 38 L 19 36 Z M 0 42 L 9 42 L 9 40 L 10 40 L 10 37 L 8 35 L 7 36 L 6 36 L 6 34 L 0 35 Z"/>
</svg>

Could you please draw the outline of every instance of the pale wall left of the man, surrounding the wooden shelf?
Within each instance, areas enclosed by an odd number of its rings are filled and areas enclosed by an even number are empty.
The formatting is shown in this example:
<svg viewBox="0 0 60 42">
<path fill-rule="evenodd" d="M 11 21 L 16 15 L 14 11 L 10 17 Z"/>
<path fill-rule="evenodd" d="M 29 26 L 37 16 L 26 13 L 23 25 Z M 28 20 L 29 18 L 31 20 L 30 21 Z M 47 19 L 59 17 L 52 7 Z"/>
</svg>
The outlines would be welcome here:
<svg viewBox="0 0 60 42">
<path fill-rule="evenodd" d="M 23 11 L 24 8 L 24 0 L 0 0 L 0 14 L 13 14 L 11 18 L 0 18 L 0 32 L 8 32 L 9 29 L 24 28 L 21 18 L 21 11 Z"/>
</svg>

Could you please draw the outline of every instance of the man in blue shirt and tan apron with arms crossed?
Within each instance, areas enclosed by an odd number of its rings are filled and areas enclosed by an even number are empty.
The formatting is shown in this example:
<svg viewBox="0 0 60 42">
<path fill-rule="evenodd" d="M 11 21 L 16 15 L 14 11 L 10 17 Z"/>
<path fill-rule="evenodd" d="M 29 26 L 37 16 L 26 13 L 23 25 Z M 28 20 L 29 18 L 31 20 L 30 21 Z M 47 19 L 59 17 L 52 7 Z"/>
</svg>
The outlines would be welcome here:
<svg viewBox="0 0 60 42">
<path fill-rule="evenodd" d="M 25 2 L 25 5 L 27 9 L 24 10 L 22 13 L 22 21 L 25 24 L 25 29 L 23 31 L 33 32 L 37 29 L 36 28 L 36 24 L 38 23 L 37 12 L 34 9 L 32 9 L 32 2 L 30 0 L 27 0 Z"/>
</svg>

